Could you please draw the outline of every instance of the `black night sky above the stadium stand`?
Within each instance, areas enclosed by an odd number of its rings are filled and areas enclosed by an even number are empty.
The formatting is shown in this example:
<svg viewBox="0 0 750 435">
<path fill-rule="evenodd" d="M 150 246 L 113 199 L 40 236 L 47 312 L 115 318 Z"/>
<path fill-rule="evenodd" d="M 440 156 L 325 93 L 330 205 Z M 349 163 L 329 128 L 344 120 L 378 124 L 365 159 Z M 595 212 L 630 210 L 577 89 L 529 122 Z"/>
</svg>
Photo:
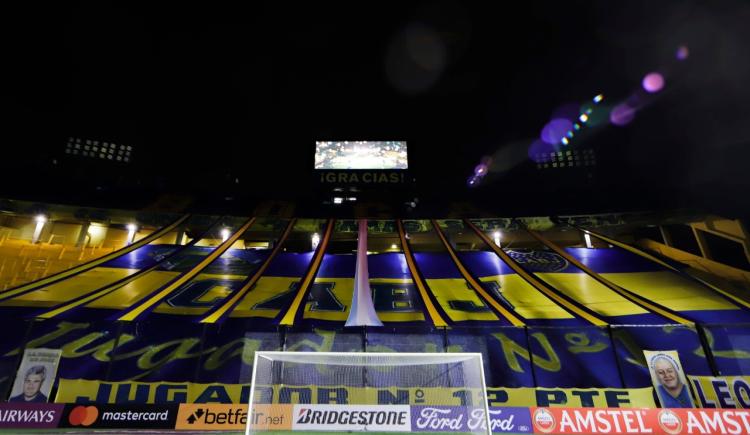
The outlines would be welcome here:
<svg viewBox="0 0 750 435">
<path fill-rule="evenodd" d="M 748 213 L 748 2 L 152 3 L 2 14 L 2 196 L 306 201 L 315 140 L 394 139 L 436 210 Z M 651 71 L 666 87 L 631 124 L 577 139 L 596 168 L 528 160 L 556 108 L 617 104 Z M 132 145 L 134 161 L 65 159 L 70 136 Z"/>
</svg>

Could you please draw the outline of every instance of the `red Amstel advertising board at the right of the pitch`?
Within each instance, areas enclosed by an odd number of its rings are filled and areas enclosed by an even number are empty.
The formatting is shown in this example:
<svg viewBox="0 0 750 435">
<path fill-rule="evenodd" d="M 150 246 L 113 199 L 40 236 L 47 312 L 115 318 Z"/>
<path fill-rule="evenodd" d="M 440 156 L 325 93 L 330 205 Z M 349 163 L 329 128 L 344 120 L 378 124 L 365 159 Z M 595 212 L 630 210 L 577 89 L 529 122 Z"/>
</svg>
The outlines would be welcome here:
<svg viewBox="0 0 750 435">
<path fill-rule="evenodd" d="M 532 408 L 537 434 L 747 434 L 750 411 Z"/>
</svg>

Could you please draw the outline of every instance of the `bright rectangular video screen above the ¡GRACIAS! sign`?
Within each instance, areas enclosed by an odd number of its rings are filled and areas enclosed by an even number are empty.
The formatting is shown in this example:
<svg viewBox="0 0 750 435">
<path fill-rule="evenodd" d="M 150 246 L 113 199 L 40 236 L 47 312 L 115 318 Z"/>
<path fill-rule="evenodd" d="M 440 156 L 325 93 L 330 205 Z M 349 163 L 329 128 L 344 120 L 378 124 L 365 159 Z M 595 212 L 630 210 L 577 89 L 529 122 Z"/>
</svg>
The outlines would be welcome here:
<svg viewBox="0 0 750 435">
<path fill-rule="evenodd" d="M 408 169 L 406 142 L 315 142 L 315 169 Z"/>
</svg>

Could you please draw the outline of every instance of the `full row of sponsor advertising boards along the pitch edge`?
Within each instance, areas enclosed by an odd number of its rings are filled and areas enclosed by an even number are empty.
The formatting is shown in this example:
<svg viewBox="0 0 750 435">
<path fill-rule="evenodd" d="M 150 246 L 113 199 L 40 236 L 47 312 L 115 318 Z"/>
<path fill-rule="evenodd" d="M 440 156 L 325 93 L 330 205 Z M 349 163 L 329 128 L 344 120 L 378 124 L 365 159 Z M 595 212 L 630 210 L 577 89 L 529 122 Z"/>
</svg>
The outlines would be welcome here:
<svg viewBox="0 0 750 435">
<path fill-rule="evenodd" d="M 151 429 L 262 434 L 345 431 L 467 433 L 485 425 L 484 409 L 423 405 L 77 405 L 0 403 L 0 429 Z M 750 410 L 491 407 L 496 434 L 747 434 Z"/>
</svg>

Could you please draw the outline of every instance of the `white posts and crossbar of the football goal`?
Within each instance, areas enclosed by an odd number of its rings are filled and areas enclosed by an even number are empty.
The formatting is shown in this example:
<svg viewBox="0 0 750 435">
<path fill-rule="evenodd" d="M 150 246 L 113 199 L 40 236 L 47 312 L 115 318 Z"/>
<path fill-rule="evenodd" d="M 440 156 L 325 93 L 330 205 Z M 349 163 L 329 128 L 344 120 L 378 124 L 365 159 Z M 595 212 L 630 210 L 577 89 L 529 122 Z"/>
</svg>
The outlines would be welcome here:
<svg viewBox="0 0 750 435">
<path fill-rule="evenodd" d="M 393 357 L 394 361 L 397 361 L 401 357 L 418 357 L 412 361 L 410 361 L 408 364 L 388 364 L 392 366 L 415 366 L 420 365 L 420 360 L 427 360 L 429 362 L 421 363 L 421 365 L 431 365 L 431 364 L 449 364 L 451 362 L 460 362 L 465 361 L 467 359 L 478 359 L 479 360 L 479 379 L 482 383 L 481 391 L 482 391 L 482 404 L 480 405 L 482 408 L 484 408 L 484 420 L 485 425 L 487 427 L 487 433 L 492 433 L 492 425 L 490 421 L 490 410 L 489 405 L 487 403 L 487 383 L 484 376 L 484 360 L 482 359 L 482 354 L 479 352 L 462 352 L 462 353 L 451 353 L 451 352 L 437 352 L 437 353 L 427 353 L 427 352 L 287 352 L 287 351 L 256 351 L 255 357 L 253 358 L 253 374 L 251 378 L 250 383 L 250 398 L 248 403 L 248 424 L 245 428 L 245 434 L 251 435 L 252 433 L 255 433 L 251 431 L 251 421 L 250 416 L 252 415 L 253 411 L 253 404 L 255 399 L 255 375 L 256 370 L 258 368 L 258 358 L 264 358 L 273 361 L 274 356 L 282 357 L 285 360 L 289 360 L 288 358 L 290 356 L 299 356 L 302 359 L 300 361 L 291 361 L 291 362 L 300 362 L 300 363 L 307 363 L 307 364 L 315 364 L 316 360 L 320 358 L 320 361 L 317 362 L 318 364 L 327 364 L 330 363 L 331 359 L 330 357 L 336 357 L 336 356 L 345 356 L 345 357 L 351 357 L 351 356 L 362 356 L 362 357 L 383 357 L 384 359 L 388 359 L 389 357 Z M 270 358 L 268 358 L 270 357 Z M 427 358 L 426 358 L 427 357 Z M 429 357 L 434 357 L 435 359 L 431 359 Z M 282 359 L 279 358 L 279 359 Z M 343 362 L 342 362 L 343 361 Z M 333 365 L 333 364 L 332 364 Z M 346 359 L 337 360 L 335 365 L 357 365 L 361 366 L 361 364 L 346 364 Z"/>
</svg>

